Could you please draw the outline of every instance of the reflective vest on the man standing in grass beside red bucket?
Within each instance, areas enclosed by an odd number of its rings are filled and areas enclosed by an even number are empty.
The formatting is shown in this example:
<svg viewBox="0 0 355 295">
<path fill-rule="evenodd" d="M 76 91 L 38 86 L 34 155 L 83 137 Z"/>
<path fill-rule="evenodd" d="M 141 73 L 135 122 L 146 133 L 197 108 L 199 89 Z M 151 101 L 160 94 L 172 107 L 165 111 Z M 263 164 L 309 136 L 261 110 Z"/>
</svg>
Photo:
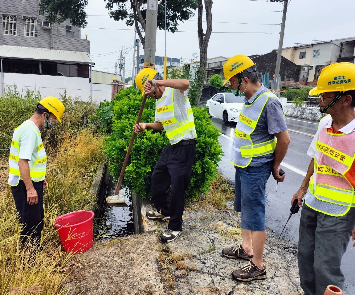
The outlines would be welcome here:
<svg viewBox="0 0 355 295">
<path fill-rule="evenodd" d="M 29 161 L 29 174 L 31 176 L 32 181 L 41 181 L 45 178 L 46 165 L 47 165 L 47 155 L 45 153 L 45 149 L 43 146 L 41 134 L 38 130 L 32 126 L 31 123 L 22 123 L 19 127 L 15 128 L 13 132 L 11 148 L 10 148 L 10 156 L 9 156 L 9 185 L 17 186 L 20 179 L 22 179 L 20 175 L 20 169 L 18 168 L 18 156 L 20 155 L 20 147 L 18 140 L 18 131 L 23 127 L 31 127 L 37 134 L 38 138 L 38 146 L 37 146 L 37 155 L 34 163 Z M 31 164 L 30 164 L 31 163 Z"/>
</svg>

